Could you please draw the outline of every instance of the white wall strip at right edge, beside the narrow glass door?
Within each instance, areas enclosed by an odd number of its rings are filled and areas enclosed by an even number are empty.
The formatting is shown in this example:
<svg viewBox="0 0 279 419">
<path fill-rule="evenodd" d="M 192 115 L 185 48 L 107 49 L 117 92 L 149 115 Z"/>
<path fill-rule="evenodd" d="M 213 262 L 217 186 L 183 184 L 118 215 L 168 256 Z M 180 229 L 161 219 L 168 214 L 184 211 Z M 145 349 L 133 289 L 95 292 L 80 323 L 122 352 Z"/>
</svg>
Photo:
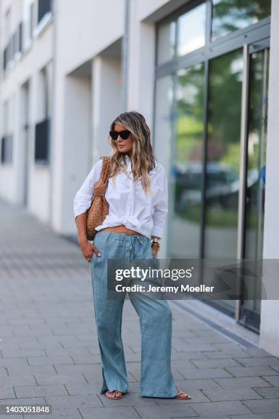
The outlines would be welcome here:
<svg viewBox="0 0 279 419">
<path fill-rule="evenodd" d="M 267 126 L 267 168 L 265 186 L 265 225 L 263 258 L 279 258 L 279 2 L 271 3 L 271 44 L 269 62 L 269 110 Z M 269 283 L 265 283 L 267 292 Z M 272 291 L 272 290 L 271 290 Z M 261 302 L 260 346 L 279 356 L 279 301 Z"/>
</svg>

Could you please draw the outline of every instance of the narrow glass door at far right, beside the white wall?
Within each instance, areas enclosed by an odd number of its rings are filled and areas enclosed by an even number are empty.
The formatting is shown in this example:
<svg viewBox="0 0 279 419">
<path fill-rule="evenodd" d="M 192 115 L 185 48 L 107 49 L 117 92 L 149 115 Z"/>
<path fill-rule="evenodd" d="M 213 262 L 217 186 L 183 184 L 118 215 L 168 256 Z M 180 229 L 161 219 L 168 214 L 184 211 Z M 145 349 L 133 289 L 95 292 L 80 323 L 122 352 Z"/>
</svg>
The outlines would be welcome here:
<svg viewBox="0 0 279 419">
<path fill-rule="evenodd" d="M 243 231 L 241 257 L 263 258 L 265 210 L 265 168 L 269 81 L 269 40 L 247 49 L 249 75 L 247 125 L 245 129 L 245 182 L 243 184 Z M 246 284 L 239 307 L 239 322 L 259 331 L 261 320 L 261 280 Z M 249 299 L 248 299 L 249 296 Z"/>
</svg>

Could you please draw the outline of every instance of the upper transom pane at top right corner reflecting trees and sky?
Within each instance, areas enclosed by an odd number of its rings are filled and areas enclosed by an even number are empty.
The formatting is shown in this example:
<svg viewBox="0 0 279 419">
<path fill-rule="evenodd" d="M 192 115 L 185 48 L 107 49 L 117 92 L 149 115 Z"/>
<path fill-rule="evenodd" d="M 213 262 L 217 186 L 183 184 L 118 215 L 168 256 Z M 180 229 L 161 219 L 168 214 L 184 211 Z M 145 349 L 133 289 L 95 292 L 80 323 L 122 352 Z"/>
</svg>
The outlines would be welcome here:
<svg viewBox="0 0 279 419">
<path fill-rule="evenodd" d="M 271 14 L 271 0 L 213 0 L 212 36 L 243 29 Z"/>
</svg>

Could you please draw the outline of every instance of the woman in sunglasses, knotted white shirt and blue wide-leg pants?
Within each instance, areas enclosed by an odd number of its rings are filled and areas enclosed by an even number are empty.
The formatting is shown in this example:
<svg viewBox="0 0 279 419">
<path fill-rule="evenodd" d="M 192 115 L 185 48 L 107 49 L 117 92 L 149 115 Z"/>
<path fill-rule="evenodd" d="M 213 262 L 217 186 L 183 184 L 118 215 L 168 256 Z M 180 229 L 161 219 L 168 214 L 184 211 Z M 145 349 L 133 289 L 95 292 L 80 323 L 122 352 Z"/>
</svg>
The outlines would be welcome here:
<svg viewBox="0 0 279 419">
<path fill-rule="evenodd" d="M 77 192 L 74 212 L 79 245 L 91 264 L 94 310 L 101 351 L 101 394 L 119 399 L 128 392 L 127 371 L 121 339 L 124 300 L 107 299 L 107 258 L 150 259 L 157 257 L 165 215 L 168 188 L 163 166 L 155 160 L 150 129 L 142 114 L 124 112 L 110 125 L 111 177 L 105 198 L 109 203 L 102 225 L 96 227 L 93 243 L 86 239 L 86 210 L 93 185 L 101 173 L 100 159 Z M 151 241 L 150 241 L 151 238 Z M 166 300 L 132 298 L 142 333 L 139 394 L 149 397 L 191 398 L 176 390 L 170 368 L 172 312 Z"/>
</svg>

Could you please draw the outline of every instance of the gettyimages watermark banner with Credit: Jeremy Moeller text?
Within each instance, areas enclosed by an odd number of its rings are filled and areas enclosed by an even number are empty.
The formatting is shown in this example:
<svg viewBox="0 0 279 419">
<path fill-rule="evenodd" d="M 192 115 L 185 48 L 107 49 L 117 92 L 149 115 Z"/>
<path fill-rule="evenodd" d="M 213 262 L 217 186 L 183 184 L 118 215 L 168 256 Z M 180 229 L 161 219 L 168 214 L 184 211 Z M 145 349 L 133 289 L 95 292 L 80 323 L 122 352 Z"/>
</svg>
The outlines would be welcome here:
<svg viewBox="0 0 279 419">
<path fill-rule="evenodd" d="M 107 298 L 279 299 L 279 259 L 107 259 Z"/>
</svg>

